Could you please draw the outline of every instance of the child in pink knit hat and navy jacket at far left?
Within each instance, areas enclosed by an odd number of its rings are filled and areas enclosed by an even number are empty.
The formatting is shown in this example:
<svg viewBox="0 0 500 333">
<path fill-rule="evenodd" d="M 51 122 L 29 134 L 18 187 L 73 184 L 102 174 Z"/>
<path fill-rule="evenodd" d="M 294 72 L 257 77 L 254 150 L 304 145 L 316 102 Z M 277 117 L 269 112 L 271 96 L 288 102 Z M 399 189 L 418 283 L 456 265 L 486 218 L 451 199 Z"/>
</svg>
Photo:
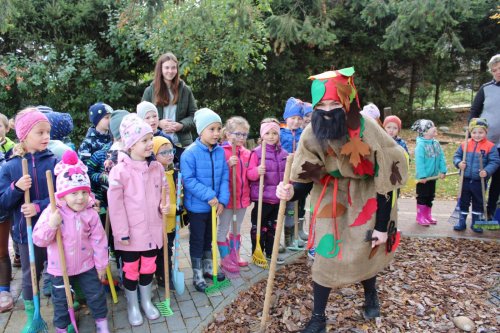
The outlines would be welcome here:
<svg viewBox="0 0 500 333">
<path fill-rule="evenodd" d="M 47 149 L 50 140 L 49 121 L 36 108 L 20 111 L 16 116 L 15 129 L 20 143 L 14 146 L 13 157 L 5 163 L 0 173 L 0 207 L 12 213 L 12 238 L 19 245 L 26 312 L 26 325 L 22 332 L 25 333 L 31 325 L 34 312 L 26 217 L 31 217 L 32 224 L 36 225 L 39 214 L 49 204 L 45 171 L 54 170 L 57 160 Z M 28 160 L 29 175 L 26 176 L 23 176 L 23 158 Z M 24 202 L 26 190 L 30 192 L 30 204 Z M 47 252 L 38 246 L 34 250 L 38 281 Z"/>
</svg>

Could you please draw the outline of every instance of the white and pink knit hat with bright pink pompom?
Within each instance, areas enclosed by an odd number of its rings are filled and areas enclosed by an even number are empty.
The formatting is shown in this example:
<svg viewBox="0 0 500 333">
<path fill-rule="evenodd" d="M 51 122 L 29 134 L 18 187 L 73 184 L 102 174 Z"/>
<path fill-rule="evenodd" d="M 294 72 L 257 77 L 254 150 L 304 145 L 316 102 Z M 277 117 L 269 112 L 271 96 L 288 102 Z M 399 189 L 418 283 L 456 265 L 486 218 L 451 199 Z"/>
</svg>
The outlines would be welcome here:
<svg viewBox="0 0 500 333">
<path fill-rule="evenodd" d="M 90 179 L 87 175 L 87 166 L 78 159 L 73 150 L 67 150 L 62 161 L 54 168 L 56 178 L 56 197 L 58 199 L 76 191 L 90 193 Z"/>
</svg>

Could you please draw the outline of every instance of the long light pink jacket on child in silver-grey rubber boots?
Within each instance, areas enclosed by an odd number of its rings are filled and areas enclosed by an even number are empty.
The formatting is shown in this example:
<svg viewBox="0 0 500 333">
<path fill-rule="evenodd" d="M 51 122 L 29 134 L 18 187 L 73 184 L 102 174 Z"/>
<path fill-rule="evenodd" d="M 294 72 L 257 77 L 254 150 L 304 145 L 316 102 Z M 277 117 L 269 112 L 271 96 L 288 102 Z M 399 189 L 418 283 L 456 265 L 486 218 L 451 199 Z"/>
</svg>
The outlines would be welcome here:
<svg viewBox="0 0 500 333">
<path fill-rule="evenodd" d="M 115 249 L 148 251 L 163 246 L 160 211 L 163 185 L 168 187 L 160 162 L 134 161 L 119 153 L 118 164 L 109 173 L 108 189 Z M 129 245 L 120 242 L 127 239 Z"/>
</svg>

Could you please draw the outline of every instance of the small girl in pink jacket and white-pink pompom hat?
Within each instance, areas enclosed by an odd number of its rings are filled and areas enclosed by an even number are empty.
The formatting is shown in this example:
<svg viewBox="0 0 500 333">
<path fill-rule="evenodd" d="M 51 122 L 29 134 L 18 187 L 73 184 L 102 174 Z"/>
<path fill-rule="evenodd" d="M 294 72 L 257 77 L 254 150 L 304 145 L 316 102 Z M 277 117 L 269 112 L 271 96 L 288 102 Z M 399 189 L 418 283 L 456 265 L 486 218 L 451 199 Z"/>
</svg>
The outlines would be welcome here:
<svg viewBox="0 0 500 333">
<path fill-rule="evenodd" d="M 108 240 L 93 208 L 94 199 L 90 195 L 90 179 L 86 171 L 87 167 L 78 160 L 74 151 L 64 153 L 54 169 L 57 210 L 53 212 L 50 206 L 47 207 L 33 230 L 33 242 L 47 247 L 47 273 L 52 282 L 57 333 L 67 332 L 71 323 L 56 241 L 58 229 L 61 230 L 70 281 L 79 282 L 94 317 L 96 331 L 109 332 L 106 294 L 100 282 L 108 265 Z"/>
</svg>

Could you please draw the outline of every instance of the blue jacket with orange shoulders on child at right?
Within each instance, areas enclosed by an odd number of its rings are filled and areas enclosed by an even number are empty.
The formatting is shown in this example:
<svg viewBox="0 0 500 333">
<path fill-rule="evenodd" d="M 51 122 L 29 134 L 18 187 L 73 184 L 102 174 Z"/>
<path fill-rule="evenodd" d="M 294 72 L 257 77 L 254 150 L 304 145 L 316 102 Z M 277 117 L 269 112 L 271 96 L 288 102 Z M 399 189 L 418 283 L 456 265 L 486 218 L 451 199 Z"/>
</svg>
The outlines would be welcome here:
<svg viewBox="0 0 500 333">
<path fill-rule="evenodd" d="M 463 143 L 458 147 L 455 155 L 453 156 L 453 164 L 458 168 L 458 163 L 462 162 L 463 157 Z M 483 168 L 488 173 L 488 179 L 500 167 L 500 157 L 495 144 L 487 139 L 476 142 L 469 139 L 467 142 L 467 149 L 465 154 L 466 167 L 464 170 L 464 177 L 474 180 L 481 180 L 479 177 L 480 164 L 479 159 L 483 156 Z"/>
</svg>

